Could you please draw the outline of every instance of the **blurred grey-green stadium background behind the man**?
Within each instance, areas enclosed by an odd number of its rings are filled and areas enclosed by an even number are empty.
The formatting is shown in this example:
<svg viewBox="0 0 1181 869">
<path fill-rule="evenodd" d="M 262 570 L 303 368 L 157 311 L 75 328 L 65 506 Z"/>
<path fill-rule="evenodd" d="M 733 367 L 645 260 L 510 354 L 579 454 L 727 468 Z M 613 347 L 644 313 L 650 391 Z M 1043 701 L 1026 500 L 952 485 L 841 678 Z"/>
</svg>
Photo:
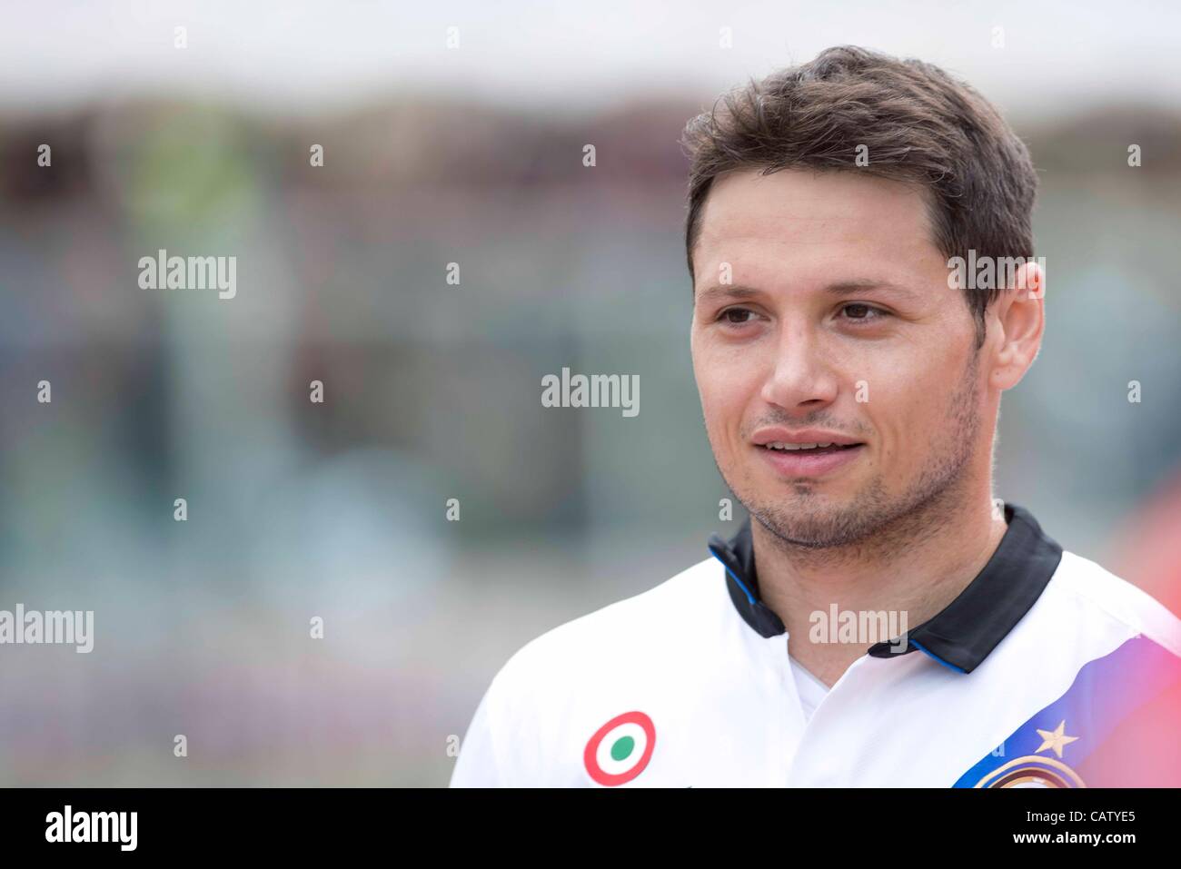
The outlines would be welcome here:
<svg viewBox="0 0 1181 869">
<path fill-rule="evenodd" d="M 445 785 L 513 652 L 707 557 L 742 516 L 677 139 L 837 44 L 1029 142 L 1049 321 L 997 495 L 1181 610 L 1175 5 L 0 8 L 0 609 L 96 632 L 0 648 L 0 784 Z M 236 298 L 142 289 L 159 248 L 236 256 Z M 543 409 L 563 366 L 641 413 Z"/>
</svg>

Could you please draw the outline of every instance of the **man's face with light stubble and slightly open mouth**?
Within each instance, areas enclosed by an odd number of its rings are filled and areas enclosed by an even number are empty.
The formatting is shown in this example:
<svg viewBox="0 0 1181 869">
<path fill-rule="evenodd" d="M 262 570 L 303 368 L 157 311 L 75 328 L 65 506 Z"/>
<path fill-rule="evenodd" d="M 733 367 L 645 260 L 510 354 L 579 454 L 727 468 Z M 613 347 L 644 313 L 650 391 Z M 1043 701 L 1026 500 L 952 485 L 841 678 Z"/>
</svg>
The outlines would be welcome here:
<svg viewBox="0 0 1181 869">
<path fill-rule="evenodd" d="M 693 266 L 713 456 L 777 537 L 854 543 L 953 491 L 990 447 L 972 315 L 919 191 L 852 171 L 730 174 Z M 766 445 L 789 440 L 857 445 Z"/>
</svg>

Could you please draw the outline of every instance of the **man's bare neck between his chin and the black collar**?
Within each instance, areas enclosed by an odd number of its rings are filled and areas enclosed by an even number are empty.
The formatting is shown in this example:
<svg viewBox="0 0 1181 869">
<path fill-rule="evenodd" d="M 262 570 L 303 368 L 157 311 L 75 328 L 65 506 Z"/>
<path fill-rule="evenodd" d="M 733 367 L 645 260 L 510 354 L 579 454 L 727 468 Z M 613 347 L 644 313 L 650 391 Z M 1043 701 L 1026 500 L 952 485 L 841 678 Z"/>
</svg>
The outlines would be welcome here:
<svg viewBox="0 0 1181 869">
<path fill-rule="evenodd" d="M 951 603 L 984 569 L 1007 528 L 987 485 L 972 497 L 945 491 L 922 507 L 846 547 L 787 543 L 751 521 L 761 596 L 783 620 L 791 656 L 826 685 L 874 642 L 813 642 L 813 613 L 896 613 L 915 628 Z M 857 620 L 860 623 L 860 619 Z"/>
</svg>

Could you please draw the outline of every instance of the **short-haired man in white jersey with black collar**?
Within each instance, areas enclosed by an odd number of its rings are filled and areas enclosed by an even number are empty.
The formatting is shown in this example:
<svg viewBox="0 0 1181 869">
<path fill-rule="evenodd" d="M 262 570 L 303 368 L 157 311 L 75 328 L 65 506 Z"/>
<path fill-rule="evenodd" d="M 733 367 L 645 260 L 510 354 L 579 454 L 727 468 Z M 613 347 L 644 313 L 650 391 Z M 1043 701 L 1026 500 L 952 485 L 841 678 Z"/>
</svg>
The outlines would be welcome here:
<svg viewBox="0 0 1181 869">
<path fill-rule="evenodd" d="M 1181 621 L 992 497 L 1044 328 L 1020 139 L 840 47 L 685 143 L 693 371 L 752 521 L 520 649 L 452 786 L 1148 783 L 1104 746 L 1175 714 Z"/>
</svg>

